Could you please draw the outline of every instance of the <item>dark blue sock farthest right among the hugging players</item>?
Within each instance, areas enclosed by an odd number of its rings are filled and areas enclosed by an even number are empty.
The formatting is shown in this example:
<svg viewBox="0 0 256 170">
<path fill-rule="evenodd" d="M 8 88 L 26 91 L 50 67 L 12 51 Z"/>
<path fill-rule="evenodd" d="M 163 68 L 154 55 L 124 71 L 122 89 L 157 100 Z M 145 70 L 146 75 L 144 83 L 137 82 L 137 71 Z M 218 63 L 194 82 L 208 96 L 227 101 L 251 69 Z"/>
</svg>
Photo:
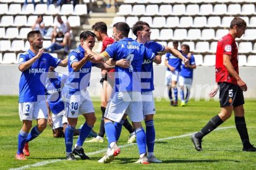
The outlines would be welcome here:
<svg viewBox="0 0 256 170">
<path fill-rule="evenodd" d="M 153 120 L 145 121 L 145 125 L 146 125 L 146 142 L 147 142 L 148 152 L 154 152 L 155 137 L 156 137 L 154 121 Z"/>
</svg>

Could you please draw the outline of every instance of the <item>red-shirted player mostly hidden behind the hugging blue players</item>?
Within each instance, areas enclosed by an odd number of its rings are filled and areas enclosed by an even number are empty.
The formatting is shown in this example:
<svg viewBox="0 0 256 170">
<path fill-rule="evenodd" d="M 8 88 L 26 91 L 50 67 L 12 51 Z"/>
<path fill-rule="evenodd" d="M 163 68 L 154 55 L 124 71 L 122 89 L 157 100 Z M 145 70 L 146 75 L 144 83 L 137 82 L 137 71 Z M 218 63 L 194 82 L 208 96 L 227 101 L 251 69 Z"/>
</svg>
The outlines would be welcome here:
<svg viewBox="0 0 256 170">
<path fill-rule="evenodd" d="M 96 38 L 98 41 L 102 41 L 102 48 L 101 52 L 105 51 L 106 47 L 108 47 L 110 44 L 113 44 L 114 39 L 110 38 L 107 34 L 107 26 L 105 22 L 96 22 L 92 26 L 93 32 L 96 34 Z M 113 85 L 114 85 L 114 69 L 111 70 L 101 70 L 101 80 L 100 83 L 103 86 L 103 89 L 101 89 L 101 111 L 102 111 L 102 118 L 101 118 L 101 124 L 100 124 L 100 132 L 98 133 L 98 136 L 93 138 L 92 140 L 88 140 L 86 142 L 104 142 L 104 135 L 105 135 L 105 127 L 104 127 L 104 114 L 106 110 L 106 105 L 109 101 L 109 97 L 111 96 L 113 92 Z M 126 119 L 124 122 L 124 127 L 129 131 L 130 137 L 128 140 L 128 143 L 135 142 L 135 130 L 132 127 L 132 125 L 129 123 L 129 121 Z"/>
</svg>

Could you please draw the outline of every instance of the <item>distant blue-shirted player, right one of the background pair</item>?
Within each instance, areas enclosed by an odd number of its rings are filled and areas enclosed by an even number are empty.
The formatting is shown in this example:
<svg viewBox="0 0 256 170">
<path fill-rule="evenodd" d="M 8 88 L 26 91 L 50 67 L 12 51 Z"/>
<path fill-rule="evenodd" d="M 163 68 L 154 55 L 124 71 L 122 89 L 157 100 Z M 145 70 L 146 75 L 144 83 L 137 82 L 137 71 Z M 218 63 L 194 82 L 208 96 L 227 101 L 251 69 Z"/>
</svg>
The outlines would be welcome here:
<svg viewBox="0 0 256 170">
<path fill-rule="evenodd" d="M 181 51 L 184 54 L 185 57 L 189 54 L 190 48 L 187 44 L 182 44 Z M 190 89 L 192 86 L 192 79 L 193 79 L 193 70 L 197 68 L 195 65 L 195 58 L 194 55 L 190 55 L 189 64 L 184 65 L 182 62 L 181 65 L 181 72 L 179 75 L 179 87 L 181 89 L 180 95 L 181 95 L 181 106 L 185 106 L 187 102 L 189 102 L 189 96 L 190 96 Z M 186 96 L 184 97 L 184 88 L 186 87 Z"/>
</svg>

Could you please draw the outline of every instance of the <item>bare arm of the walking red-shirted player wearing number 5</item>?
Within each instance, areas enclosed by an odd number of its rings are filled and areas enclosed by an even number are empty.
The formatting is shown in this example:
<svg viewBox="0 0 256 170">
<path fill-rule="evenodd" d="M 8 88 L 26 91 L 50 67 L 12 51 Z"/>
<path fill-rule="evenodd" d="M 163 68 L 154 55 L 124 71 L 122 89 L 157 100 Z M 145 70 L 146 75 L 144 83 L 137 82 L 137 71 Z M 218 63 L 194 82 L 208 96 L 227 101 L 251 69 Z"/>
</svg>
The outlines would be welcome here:
<svg viewBox="0 0 256 170">
<path fill-rule="evenodd" d="M 247 85 L 242 81 L 242 79 L 237 74 L 236 70 L 234 70 L 234 67 L 231 63 L 231 55 L 223 54 L 223 65 L 228 70 L 228 73 L 233 76 L 237 80 L 238 86 L 241 87 L 242 91 L 247 91 Z"/>
</svg>

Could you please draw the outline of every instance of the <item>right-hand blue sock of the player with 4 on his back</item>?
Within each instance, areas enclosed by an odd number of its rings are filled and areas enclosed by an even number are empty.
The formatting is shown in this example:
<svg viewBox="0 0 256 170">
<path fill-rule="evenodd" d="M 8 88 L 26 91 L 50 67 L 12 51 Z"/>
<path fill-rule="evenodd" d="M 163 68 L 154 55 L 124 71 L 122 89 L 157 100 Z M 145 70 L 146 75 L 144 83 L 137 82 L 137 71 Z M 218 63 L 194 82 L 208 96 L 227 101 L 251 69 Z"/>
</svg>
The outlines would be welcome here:
<svg viewBox="0 0 256 170">
<path fill-rule="evenodd" d="M 147 152 L 147 146 L 146 146 L 146 134 L 143 129 L 143 127 L 139 127 L 135 130 L 136 138 L 137 138 L 137 145 L 139 148 L 139 153 L 146 153 Z"/>
</svg>

